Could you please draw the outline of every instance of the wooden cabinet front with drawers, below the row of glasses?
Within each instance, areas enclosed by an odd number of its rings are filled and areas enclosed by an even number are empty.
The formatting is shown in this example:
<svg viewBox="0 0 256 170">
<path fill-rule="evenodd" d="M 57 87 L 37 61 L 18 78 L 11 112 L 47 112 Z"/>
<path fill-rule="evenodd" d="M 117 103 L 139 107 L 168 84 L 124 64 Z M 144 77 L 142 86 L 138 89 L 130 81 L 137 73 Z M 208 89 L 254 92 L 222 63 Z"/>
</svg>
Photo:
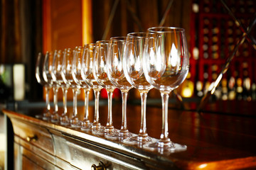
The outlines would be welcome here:
<svg viewBox="0 0 256 170">
<path fill-rule="evenodd" d="M 15 169 L 164 169 L 154 154 L 28 115 L 4 111 L 14 128 Z M 154 158 L 154 159 L 152 159 Z M 162 167 L 161 167 L 162 166 Z"/>
</svg>

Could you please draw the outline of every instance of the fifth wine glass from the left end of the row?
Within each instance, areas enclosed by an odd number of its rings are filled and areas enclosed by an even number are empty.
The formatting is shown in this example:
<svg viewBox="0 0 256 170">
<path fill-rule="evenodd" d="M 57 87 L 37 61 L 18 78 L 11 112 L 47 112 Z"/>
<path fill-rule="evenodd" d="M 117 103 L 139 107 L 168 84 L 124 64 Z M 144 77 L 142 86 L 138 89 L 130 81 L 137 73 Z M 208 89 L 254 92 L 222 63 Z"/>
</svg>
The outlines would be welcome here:
<svg viewBox="0 0 256 170">
<path fill-rule="evenodd" d="M 80 86 L 85 91 L 85 118 L 80 122 L 81 130 L 90 130 L 91 123 L 89 120 L 89 94 L 90 86 L 88 86 L 85 81 L 82 79 L 82 52 L 83 47 L 75 47 L 75 53 L 73 57 L 72 65 L 72 76 L 76 84 Z"/>
</svg>

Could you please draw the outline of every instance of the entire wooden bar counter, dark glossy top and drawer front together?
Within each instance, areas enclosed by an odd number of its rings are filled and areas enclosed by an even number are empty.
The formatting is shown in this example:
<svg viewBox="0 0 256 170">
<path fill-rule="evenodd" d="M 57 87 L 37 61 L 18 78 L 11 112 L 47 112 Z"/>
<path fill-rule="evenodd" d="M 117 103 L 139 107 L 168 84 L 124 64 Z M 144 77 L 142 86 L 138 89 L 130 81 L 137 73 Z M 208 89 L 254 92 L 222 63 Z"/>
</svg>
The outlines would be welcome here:
<svg viewBox="0 0 256 170">
<path fill-rule="evenodd" d="M 184 103 L 182 109 L 170 103 L 169 137 L 187 149 L 169 154 L 37 119 L 35 115 L 43 113 L 41 107 L 21 106 L 3 112 L 14 128 L 15 169 L 91 169 L 93 164 L 104 164 L 107 169 L 256 169 L 255 104 L 219 101 L 198 113 L 193 102 Z M 94 106 L 89 109 L 92 121 Z M 146 109 L 147 132 L 159 139 L 161 103 L 149 104 Z M 68 111 L 71 113 L 72 107 Z M 127 106 L 128 129 L 136 134 L 140 111 L 138 104 Z M 78 113 L 84 113 L 84 107 L 79 106 Z M 121 103 L 114 103 L 114 128 L 120 128 L 121 117 Z M 101 105 L 100 123 L 106 122 L 107 106 Z"/>
</svg>

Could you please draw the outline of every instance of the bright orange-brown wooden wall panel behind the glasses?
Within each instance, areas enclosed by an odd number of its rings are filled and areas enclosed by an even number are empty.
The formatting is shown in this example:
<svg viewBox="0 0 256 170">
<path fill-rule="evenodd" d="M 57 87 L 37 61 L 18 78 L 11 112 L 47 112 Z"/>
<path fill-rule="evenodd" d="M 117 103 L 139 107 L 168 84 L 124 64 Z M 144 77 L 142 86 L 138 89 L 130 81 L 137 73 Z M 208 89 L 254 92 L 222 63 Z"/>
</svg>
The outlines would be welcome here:
<svg viewBox="0 0 256 170">
<path fill-rule="evenodd" d="M 82 45 L 82 1 L 44 1 L 44 51 Z"/>
</svg>

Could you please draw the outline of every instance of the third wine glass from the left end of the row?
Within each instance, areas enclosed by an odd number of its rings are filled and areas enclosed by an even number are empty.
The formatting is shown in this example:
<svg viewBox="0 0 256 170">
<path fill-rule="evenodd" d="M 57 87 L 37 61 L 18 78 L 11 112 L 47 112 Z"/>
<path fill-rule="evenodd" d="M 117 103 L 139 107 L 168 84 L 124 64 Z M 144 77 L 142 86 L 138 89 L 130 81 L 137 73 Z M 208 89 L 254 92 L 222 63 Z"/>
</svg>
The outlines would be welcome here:
<svg viewBox="0 0 256 170">
<path fill-rule="evenodd" d="M 60 124 L 68 125 L 70 120 L 68 118 L 68 109 L 67 109 L 67 94 L 68 94 L 68 85 L 65 84 L 63 78 L 61 76 L 61 72 L 63 72 L 63 57 L 65 54 L 65 50 L 58 50 L 56 55 L 53 57 L 53 72 L 52 77 L 58 88 L 63 90 L 63 113 L 60 115 Z"/>
</svg>

